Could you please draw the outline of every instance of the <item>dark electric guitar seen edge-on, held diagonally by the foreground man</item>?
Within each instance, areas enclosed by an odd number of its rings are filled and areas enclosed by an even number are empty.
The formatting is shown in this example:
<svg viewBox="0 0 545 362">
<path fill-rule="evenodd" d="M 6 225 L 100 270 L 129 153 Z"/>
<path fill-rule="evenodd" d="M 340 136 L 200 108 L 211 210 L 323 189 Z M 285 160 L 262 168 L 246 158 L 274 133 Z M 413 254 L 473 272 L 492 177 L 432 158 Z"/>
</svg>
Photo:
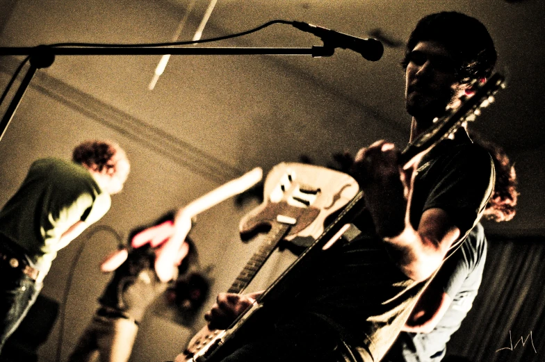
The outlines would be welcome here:
<svg viewBox="0 0 545 362">
<path fill-rule="evenodd" d="M 455 109 L 447 109 L 446 115 L 440 119 L 434 120 L 430 128 L 409 144 L 400 155 L 400 165 L 404 168 L 412 167 L 423 154 L 430 151 L 439 141 L 453 135 L 460 126 L 466 122 L 475 120 L 476 116 L 480 115 L 480 109 L 488 106 L 494 101 L 494 94 L 500 88 L 503 88 L 504 79 L 501 74 L 494 74 L 483 85 L 475 85 L 476 92 L 472 97 L 464 97 L 462 104 Z M 361 212 L 364 208 L 364 194 L 358 192 L 350 203 L 339 213 L 336 220 L 332 222 L 323 233 L 309 246 L 289 268 L 277 278 L 271 286 L 269 286 L 250 306 L 247 310 L 238 316 L 238 318 L 225 331 L 220 331 L 217 336 L 211 338 L 209 343 L 202 347 L 199 352 L 195 353 L 191 359 L 176 359 L 176 362 L 213 362 L 216 356 L 222 356 L 222 351 L 225 351 L 226 345 L 231 345 L 238 332 L 252 320 L 252 317 L 259 313 L 259 310 L 264 305 L 282 299 L 286 288 L 294 284 L 298 275 L 305 275 L 305 271 L 309 270 L 320 261 L 320 256 L 323 256 L 325 249 L 329 249 L 331 245 L 338 240 L 348 223 L 350 223 L 355 215 Z M 248 323 L 249 324 L 249 323 Z M 182 356 L 181 354 L 179 357 Z"/>
</svg>

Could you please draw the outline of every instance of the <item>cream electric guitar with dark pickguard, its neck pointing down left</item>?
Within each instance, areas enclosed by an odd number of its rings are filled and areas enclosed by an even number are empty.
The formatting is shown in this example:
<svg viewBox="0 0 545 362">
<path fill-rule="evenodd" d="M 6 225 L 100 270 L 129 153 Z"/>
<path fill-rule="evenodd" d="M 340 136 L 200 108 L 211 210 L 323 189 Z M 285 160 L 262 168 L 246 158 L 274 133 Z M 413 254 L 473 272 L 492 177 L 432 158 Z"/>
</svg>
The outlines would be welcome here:
<svg viewBox="0 0 545 362">
<path fill-rule="evenodd" d="M 316 240 L 326 217 L 339 211 L 357 194 L 357 181 L 348 174 L 302 163 L 280 163 L 265 181 L 264 201 L 247 213 L 239 225 L 243 239 L 261 238 L 261 245 L 238 274 L 228 293 L 243 293 L 280 240 L 311 237 Z M 259 233 L 270 227 L 267 233 Z M 189 361 L 222 333 L 201 329 L 177 361 Z"/>
</svg>

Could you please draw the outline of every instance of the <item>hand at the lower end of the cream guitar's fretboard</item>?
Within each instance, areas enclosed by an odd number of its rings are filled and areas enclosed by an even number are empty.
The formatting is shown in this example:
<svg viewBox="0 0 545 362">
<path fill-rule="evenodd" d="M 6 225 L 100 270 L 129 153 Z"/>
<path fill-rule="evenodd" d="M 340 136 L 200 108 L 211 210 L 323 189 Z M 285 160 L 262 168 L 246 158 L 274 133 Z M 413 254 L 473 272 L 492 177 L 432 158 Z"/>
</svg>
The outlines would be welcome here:
<svg viewBox="0 0 545 362">
<path fill-rule="evenodd" d="M 220 293 L 211 310 L 206 312 L 204 319 L 208 321 L 209 329 L 227 329 L 252 303 L 261 292 L 247 295 L 235 293 Z"/>
</svg>

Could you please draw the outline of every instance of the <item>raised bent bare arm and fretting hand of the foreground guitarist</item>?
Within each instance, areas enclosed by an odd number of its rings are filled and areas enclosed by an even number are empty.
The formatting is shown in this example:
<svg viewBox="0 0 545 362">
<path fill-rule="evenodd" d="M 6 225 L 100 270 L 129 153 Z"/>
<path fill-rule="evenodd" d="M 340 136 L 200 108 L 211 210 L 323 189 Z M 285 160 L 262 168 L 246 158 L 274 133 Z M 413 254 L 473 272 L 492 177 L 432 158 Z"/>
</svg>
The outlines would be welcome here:
<svg viewBox="0 0 545 362">
<path fill-rule="evenodd" d="M 376 231 L 390 246 L 393 260 L 407 277 L 423 281 L 439 268 L 460 231 L 440 208 L 425 211 L 418 228 L 412 227 L 409 206 L 416 163 L 403 170 L 398 155 L 391 143 L 378 141 L 358 152 L 353 170 Z"/>
</svg>

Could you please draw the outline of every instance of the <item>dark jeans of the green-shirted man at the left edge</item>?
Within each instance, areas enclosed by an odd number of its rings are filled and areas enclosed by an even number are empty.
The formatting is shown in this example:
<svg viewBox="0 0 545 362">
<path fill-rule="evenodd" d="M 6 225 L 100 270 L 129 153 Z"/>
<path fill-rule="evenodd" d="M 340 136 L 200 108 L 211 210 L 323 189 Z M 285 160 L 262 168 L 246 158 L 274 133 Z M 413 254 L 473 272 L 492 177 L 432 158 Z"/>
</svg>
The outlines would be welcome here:
<svg viewBox="0 0 545 362">
<path fill-rule="evenodd" d="M 35 283 L 8 261 L 0 260 L 0 353 L 8 337 L 36 301 L 42 283 Z"/>
</svg>

